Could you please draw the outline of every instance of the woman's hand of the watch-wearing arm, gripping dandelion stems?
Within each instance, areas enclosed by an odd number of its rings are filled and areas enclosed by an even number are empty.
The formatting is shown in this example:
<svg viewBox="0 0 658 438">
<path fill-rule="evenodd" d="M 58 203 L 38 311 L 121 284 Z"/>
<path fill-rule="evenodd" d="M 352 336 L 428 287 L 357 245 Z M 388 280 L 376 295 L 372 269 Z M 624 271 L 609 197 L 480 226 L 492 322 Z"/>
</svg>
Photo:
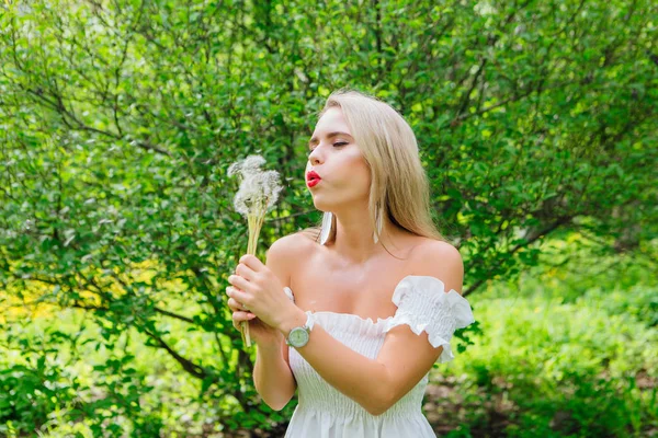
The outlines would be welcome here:
<svg viewBox="0 0 658 438">
<path fill-rule="evenodd" d="M 228 283 L 234 288 L 227 289 L 226 293 L 275 330 L 299 311 L 285 295 L 279 277 L 254 255 L 240 257 L 240 264 L 228 277 Z"/>
</svg>

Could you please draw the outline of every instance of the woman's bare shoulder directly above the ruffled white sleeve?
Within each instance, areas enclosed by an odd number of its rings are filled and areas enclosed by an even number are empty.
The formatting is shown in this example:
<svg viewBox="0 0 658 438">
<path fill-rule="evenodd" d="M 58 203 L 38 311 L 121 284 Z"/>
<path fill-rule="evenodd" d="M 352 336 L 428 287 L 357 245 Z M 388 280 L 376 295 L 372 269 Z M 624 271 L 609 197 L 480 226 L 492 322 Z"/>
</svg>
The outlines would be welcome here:
<svg viewBox="0 0 658 438">
<path fill-rule="evenodd" d="M 464 283 L 464 261 L 462 254 L 449 242 L 423 239 L 412 252 L 415 274 L 439 278 L 445 291 L 454 289 L 462 293 Z"/>
</svg>

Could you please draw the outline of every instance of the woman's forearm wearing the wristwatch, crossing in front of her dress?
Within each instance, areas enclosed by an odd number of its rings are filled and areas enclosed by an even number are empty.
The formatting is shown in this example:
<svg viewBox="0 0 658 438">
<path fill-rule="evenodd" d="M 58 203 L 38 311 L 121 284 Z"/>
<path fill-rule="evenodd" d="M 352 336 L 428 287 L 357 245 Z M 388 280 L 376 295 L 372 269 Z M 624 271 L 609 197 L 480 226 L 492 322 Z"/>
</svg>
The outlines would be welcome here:
<svg viewBox="0 0 658 438">
<path fill-rule="evenodd" d="M 304 312 L 296 312 L 281 324 L 280 332 L 290 331 L 306 322 Z M 378 415 L 388 406 L 387 372 L 383 364 L 354 351 L 315 324 L 308 343 L 297 353 L 322 379 L 354 400 L 368 413 Z"/>
</svg>

